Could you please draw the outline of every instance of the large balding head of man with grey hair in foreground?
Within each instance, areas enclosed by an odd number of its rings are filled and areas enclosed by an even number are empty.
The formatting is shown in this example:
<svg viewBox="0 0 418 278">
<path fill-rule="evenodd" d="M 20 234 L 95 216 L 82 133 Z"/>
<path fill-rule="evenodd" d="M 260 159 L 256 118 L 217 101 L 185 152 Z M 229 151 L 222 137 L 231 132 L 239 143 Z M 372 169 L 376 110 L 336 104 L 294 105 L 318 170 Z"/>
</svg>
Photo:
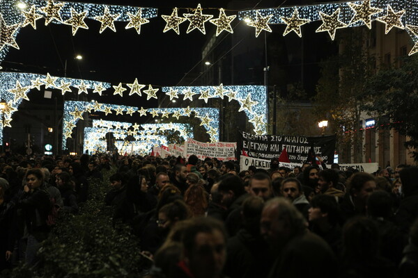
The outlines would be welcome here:
<svg viewBox="0 0 418 278">
<path fill-rule="evenodd" d="M 302 213 L 283 197 L 275 197 L 265 203 L 260 220 L 261 235 L 279 252 L 292 238 L 307 231 Z"/>
</svg>

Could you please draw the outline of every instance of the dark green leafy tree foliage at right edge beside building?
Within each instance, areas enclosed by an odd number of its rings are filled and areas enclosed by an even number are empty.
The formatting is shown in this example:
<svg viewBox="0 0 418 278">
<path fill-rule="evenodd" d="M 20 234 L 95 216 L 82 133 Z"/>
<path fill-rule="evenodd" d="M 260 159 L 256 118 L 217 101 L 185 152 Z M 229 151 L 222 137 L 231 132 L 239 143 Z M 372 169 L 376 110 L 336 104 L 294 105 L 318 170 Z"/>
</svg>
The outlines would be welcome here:
<svg viewBox="0 0 418 278">
<path fill-rule="evenodd" d="M 382 129 L 395 129 L 407 136 L 405 147 L 411 148 L 418 161 L 418 56 L 401 58 L 401 67 L 380 70 L 366 86 L 366 94 L 374 101 L 364 104 L 371 115 L 377 116 Z"/>
</svg>

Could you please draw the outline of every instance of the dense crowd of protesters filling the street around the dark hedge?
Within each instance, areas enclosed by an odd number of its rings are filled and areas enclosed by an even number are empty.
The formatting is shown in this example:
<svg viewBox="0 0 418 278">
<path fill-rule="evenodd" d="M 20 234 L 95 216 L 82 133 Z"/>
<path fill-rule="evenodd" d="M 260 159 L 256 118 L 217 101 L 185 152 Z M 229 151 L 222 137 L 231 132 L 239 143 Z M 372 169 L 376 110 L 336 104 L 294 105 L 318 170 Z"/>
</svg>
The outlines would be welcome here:
<svg viewBox="0 0 418 278">
<path fill-rule="evenodd" d="M 104 205 L 114 207 L 115 226 L 132 227 L 153 261 L 150 277 L 418 273 L 418 167 L 368 174 L 273 160 L 268 170 L 241 171 L 236 161 L 194 155 L 8 158 L 0 269 L 36 265 L 54 208 L 77 213 L 104 170 L 114 170 Z"/>
</svg>

